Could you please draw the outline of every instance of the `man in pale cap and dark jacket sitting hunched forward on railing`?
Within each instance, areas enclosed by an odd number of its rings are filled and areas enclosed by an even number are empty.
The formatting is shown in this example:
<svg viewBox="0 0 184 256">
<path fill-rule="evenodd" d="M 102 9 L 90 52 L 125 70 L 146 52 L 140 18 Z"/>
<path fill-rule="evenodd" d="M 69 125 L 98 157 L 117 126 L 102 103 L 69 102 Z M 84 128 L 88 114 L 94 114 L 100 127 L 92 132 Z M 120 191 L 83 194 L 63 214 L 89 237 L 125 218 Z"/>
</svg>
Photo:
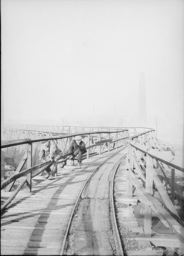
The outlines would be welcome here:
<svg viewBox="0 0 184 256">
<path fill-rule="evenodd" d="M 74 158 L 78 155 L 78 167 L 77 169 L 81 168 L 82 162 L 82 155 L 86 153 L 86 145 L 82 141 L 82 136 L 75 136 L 75 139 L 71 141 L 70 146 L 66 153 L 72 153 L 72 165 L 74 165 Z M 67 161 L 63 162 L 61 168 L 63 168 L 67 164 Z"/>
</svg>

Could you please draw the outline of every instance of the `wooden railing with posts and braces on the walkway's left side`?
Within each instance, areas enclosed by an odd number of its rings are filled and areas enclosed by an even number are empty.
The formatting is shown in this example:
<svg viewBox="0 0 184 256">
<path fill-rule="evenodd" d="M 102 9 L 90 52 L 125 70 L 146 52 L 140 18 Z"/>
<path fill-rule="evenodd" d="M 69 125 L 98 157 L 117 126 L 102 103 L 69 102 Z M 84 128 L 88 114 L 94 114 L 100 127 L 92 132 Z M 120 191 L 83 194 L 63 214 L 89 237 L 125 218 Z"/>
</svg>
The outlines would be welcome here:
<svg viewBox="0 0 184 256">
<path fill-rule="evenodd" d="M 78 133 L 76 135 L 81 135 L 82 140 L 86 144 L 86 157 L 89 158 L 90 154 L 94 155 L 102 154 L 103 152 L 107 152 L 110 150 L 113 150 L 115 148 L 119 148 L 123 145 L 127 145 L 127 140 L 129 136 L 127 136 L 128 130 L 118 130 L 118 131 L 103 131 L 103 132 L 85 132 L 85 133 Z M 1 150 L 5 148 L 10 147 L 16 147 L 18 145 L 26 145 L 27 148 L 24 148 L 24 155 L 22 160 L 20 161 L 20 164 L 18 168 L 16 169 L 14 175 L 10 176 L 8 179 L 4 180 L 1 183 L 1 189 L 6 188 L 6 191 L 10 191 L 14 182 L 24 176 L 24 179 L 19 184 L 18 188 L 13 192 L 12 196 L 8 198 L 8 200 L 1 206 L 1 210 L 3 210 L 16 196 L 16 194 L 20 191 L 20 189 L 23 187 L 24 184 L 27 184 L 27 187 L 29 188 L 31 192 L 31 179 L 41 172 L 43 172 L 47 167 L 51 166 L 52 161 L 49 160 L 43 164 L 37 164 L 35 166 L 32 166 L 32 159 L 33 156 L 33 144 L 38 144 L 39 142 L 43 140 L 56 140 L 58 148 L 62 150 L 63 156 L 62 158 L 70 158 L 71 153 L 66 153 L 67 148 L 70 145 L 71 140 L 74 138 L 74 136 L 58 136 L 58 137 L 45 137 L 40 139 L 20 139 L 20 140 L 11 140 L 11 141 L 3 141 L 1 142 Z M 38 147 L 35 147 L 36 150 L 38 150 Z M 97 152 L 95 152 L 95 150 Z M 36 152 L 35 152 L 36 153 Z M 66 160 L 66 159 L 65 159 Z M 59 163 L 62 163 L 64 160 L 59 160 Z M 24 164 L 27 162 L 27 169 L 22 171 L 22 168 Z"/>
</svg>

